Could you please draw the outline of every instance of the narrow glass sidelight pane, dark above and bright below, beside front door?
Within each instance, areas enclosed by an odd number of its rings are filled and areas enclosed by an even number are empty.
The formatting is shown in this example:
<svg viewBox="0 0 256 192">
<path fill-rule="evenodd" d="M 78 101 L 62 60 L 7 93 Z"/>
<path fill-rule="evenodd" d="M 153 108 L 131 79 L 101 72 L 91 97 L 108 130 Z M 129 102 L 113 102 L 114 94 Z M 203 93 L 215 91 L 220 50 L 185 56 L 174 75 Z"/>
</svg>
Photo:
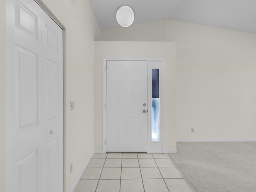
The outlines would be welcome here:
<svg viewBox="0 0 256 192">
<path fill-rule="evenodd" d="M 152 69 L 152 141 L 159 141 L 159 69 Z"/>
</svg>

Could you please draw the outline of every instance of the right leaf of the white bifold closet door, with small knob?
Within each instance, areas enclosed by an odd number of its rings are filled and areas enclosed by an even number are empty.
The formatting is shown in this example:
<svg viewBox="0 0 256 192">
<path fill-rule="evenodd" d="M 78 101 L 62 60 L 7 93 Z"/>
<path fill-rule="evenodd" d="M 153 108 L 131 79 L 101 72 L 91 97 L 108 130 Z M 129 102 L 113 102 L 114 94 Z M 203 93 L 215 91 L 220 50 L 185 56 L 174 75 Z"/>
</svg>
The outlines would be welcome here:
<svg viewBox="0 0 256 192">
<path fill-rule="evenodd" d="M 63 191 L 62 29 L 42 13 L 43 190 Z"/>
</svg>

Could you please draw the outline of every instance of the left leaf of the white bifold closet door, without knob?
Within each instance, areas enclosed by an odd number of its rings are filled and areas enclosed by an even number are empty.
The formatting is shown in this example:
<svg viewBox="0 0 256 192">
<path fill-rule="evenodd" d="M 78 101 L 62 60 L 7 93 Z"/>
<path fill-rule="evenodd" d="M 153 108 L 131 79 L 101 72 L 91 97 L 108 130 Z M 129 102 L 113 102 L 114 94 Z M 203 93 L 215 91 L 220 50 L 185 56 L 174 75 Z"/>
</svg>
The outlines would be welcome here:
<svg viewBox="0 0 256 192">
<path fill-rule="evenodd" d="M 6 6 L 6 192 L 42 192 L 41 9 Z"/>
</svg>

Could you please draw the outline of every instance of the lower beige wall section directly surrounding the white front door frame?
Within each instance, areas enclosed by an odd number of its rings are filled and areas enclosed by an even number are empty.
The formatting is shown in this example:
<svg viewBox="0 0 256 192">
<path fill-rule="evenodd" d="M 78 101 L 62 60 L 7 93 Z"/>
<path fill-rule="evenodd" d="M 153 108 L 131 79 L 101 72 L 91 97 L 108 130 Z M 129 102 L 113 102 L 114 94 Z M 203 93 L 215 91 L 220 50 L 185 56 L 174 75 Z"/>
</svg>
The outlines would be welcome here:
<svg viewBox="0 0 256 192">
<path fill-rule="evenodd" d="M 103 142 L 103 58 L 166 58 L 166 150 L 176 149 L 176 43 L 95 42 L 94 43 L 94 148 Z"/>
</svg>

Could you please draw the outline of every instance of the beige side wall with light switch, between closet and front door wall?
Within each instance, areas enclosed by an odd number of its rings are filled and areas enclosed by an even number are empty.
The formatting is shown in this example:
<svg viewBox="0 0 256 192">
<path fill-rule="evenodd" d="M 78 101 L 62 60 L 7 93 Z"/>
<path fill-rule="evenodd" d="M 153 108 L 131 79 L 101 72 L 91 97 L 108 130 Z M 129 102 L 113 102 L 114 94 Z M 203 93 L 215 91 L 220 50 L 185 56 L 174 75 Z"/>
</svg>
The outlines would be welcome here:
<svg viewBox="0 0 256 192">
<path fill-rule="evenodd" d="M 100 37 L 100 30 L 88 0 L 43 2 L 65 27 L 64 191 L 68 192 L 94 150 L 94 38 Z"/>
</svg>

